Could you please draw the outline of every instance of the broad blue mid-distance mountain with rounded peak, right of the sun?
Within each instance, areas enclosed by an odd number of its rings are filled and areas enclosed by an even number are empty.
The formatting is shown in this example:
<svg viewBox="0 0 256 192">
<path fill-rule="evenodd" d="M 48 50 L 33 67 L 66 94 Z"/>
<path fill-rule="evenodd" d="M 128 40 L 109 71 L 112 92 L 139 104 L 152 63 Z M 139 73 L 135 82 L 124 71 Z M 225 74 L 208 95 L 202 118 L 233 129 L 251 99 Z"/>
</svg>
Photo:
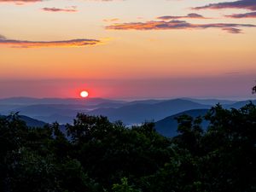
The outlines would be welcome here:
<svg viewBox="0 0 256 192">
<path fill-rule="evenodd" d="M 120 119 L 129 125 L 142 123 L 145 120 L 159 120 L 175 113 L 197 108 L 210 108 L 210 106 L 183 99 L 173 99 L 154 104 L 136 103 L 121 108 L 98 108 L 89 111 L 88 114 L 107 116 L 111 121 Z"/>
</svg>

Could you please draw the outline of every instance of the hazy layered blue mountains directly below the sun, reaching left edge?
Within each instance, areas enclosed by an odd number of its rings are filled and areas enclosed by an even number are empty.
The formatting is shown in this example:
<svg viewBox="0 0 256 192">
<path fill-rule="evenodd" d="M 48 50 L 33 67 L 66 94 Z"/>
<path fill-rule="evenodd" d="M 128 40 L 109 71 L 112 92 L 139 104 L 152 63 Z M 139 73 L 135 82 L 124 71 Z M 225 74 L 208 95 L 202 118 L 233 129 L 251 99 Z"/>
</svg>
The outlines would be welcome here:
<svg viewBox="0 0 256 192">
<path fill-rule="evenodd" d="M 119 108 L 126 102 L 102 98 L 32 98 L 11 97 L 0 99 L 0 113 L 8 115 L 20 112 L 22 115 L 44 120 L 47 123 L 72 123 L 77 113 L 87 113 L 96 108 Z"/>
</svg>

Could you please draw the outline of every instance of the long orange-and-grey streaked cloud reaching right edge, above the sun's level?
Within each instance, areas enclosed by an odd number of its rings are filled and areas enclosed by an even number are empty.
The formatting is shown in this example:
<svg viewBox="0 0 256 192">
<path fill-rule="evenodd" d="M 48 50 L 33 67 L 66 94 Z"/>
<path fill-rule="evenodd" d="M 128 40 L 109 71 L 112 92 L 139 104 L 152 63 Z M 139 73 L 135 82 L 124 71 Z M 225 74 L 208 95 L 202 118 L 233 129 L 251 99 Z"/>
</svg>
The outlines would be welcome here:
<svg viewBox="0 0 256 192">
<path fill-rule="evenodd" d="M 212 23 L 212 24 L 191 24 L 184 20 L 160 20 L 148 22 L 131 22 L 120 23 L 112 26 L 106 26 L 106 29 L 112 30 L 175 30 L 175 29 L 207 29 L 220 28 L 230 33 L 241 33 L 237 27 L 256 27 L 250 24 L 236 24 L 236 23 Z"/>
</svg>

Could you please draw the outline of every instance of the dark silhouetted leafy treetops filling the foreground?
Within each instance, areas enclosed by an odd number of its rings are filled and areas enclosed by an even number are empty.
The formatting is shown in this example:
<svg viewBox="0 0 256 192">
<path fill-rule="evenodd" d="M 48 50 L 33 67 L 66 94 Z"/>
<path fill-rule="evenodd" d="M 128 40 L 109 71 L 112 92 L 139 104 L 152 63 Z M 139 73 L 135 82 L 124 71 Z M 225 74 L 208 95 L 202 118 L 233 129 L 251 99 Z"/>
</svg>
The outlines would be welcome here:
<svg viewBox="0 0 256 192">
<path fill-rule="evenodd" d="M 202 119 L 209 121 L 207 130 Z M 154 123 L 126 128 L 79 113 L 67 135 L 57 123 L 32 128 L 0 119 L 3 192 L 255 192 L 256 106 L 213 107 L 177 119 L 178 136 Z"/>
</svg>

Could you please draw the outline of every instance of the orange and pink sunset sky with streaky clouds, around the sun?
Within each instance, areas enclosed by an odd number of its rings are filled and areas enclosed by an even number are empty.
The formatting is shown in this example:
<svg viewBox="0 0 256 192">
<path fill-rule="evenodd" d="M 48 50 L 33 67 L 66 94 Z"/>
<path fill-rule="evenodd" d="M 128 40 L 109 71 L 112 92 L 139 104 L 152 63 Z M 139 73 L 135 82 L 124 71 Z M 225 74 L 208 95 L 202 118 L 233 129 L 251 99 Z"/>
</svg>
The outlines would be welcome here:
<svg viewBox="0 0 256 192">
<path fill-rule="evenodd" d="M 255 0 L 0 0 L 0 98 L 253 97 Z"/>
</svg>

